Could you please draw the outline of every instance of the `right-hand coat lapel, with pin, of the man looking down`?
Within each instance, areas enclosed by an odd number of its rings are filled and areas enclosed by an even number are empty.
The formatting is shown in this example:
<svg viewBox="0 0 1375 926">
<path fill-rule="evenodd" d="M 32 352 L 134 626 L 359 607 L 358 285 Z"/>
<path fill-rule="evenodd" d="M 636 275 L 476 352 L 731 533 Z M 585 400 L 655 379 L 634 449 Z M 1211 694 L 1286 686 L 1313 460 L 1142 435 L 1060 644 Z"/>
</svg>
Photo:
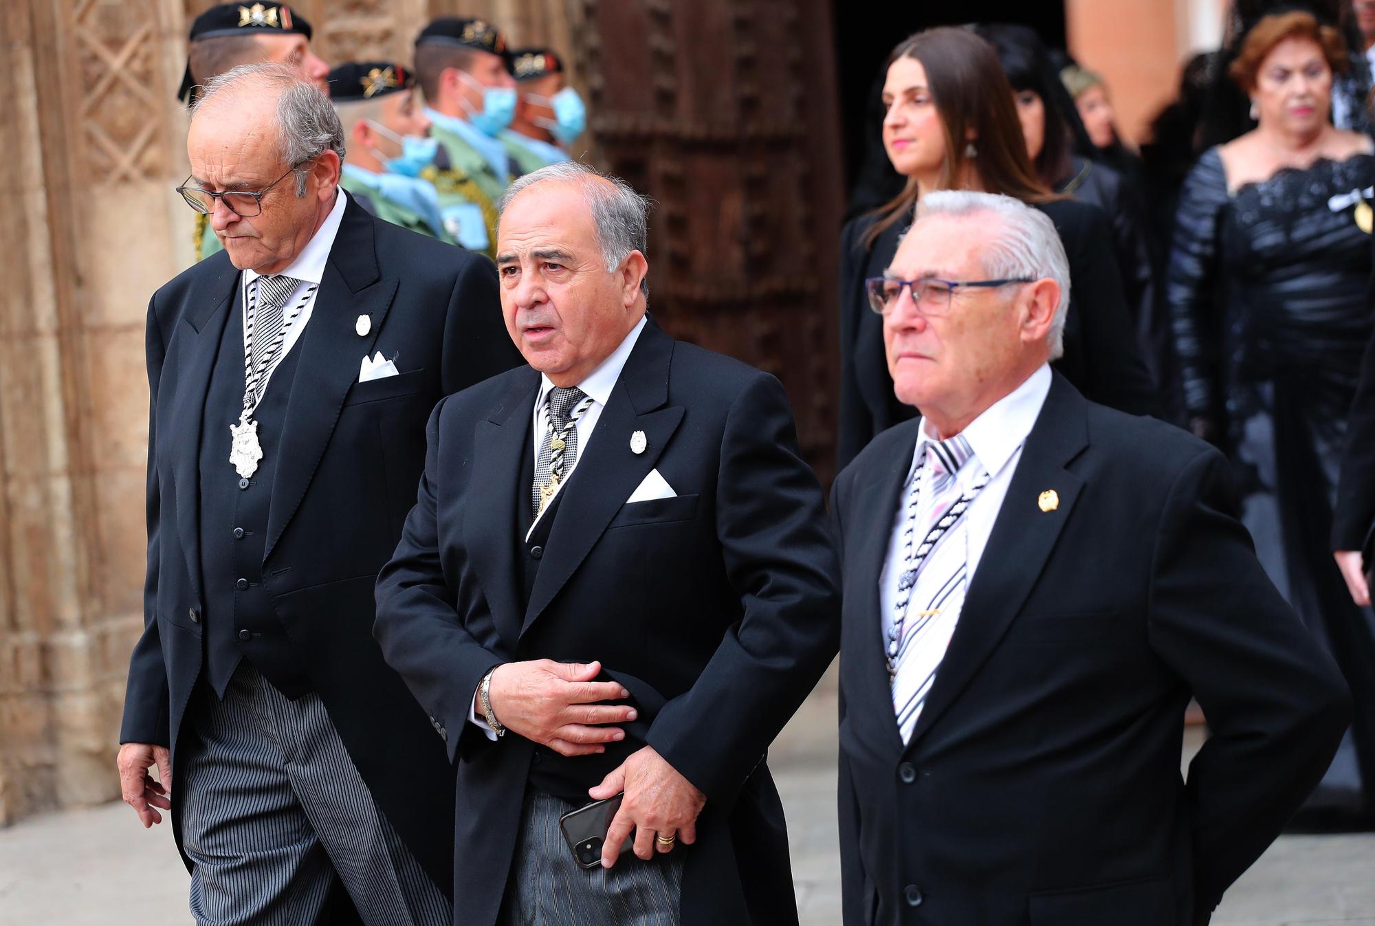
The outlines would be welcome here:
<svg viewBox="0 0 1375 926">
<path fill-rule="evenodd" d="M 340 192 L 340 195 L 345 195 Z M 315 308 L 296 346 L 301 361 L 292 383 L 292 396 L 282 422 L 282 459 L 272 481 L 272 503 L 267 518 L 267 548 L 276 541 L 301 504 L 315 475 L 324 447 L 334 433 L 344 398 L 358 379 L 364 354 L 373 352 L 382 321 L 396 295 L 397 280 L 385 278 L 377 265 L 373 218 L 349 201 L 344 209 L 324 278 L 315 294 Z M 368 334 L 359 337 L 358 316 L 371 319 Z"/>
</svg>

